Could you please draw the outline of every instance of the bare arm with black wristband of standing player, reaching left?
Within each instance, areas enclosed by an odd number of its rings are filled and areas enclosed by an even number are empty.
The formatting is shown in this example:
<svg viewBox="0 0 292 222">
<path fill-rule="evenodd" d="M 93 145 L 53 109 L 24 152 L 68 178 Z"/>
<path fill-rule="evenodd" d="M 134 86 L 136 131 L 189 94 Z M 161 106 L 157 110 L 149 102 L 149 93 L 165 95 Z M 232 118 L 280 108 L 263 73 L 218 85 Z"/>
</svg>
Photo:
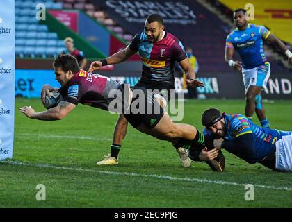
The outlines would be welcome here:
<svg viewBox="0 0 292 222">
<path fill-rule="evenodd" d="M 105 65 L 113 65 L 120 62 L 124 62 L 125 60 L 133 56 L 135 53 L 136 51 L 131 50 L 130 47 L 127 46 L 126 49 L 118 51 L 117 53 L 113 54 L 108 58 L 105 58 L 104 60 L 91 62 L 88 71 L 92 72 Z"/>
</svg>

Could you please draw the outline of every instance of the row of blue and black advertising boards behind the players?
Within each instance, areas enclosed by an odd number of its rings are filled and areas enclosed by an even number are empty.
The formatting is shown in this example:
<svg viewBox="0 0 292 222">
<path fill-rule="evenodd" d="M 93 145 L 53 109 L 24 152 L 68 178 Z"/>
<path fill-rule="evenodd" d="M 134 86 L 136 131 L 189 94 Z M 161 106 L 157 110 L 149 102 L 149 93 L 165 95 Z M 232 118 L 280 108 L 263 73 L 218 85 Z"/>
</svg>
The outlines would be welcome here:
<svg viewBox="0 0 292 222">
<path fill-rule="evenodd" d="M 134 75 L 118 74 L 116 71 L 104 73 L 106 76 L 120 80 L 120 82 L 135 85 L 139 77 Z M 117 77 L 118 76 L 118 77 Z M 200 74 L 197 78 L 205 87 L 197 88 L 199 94 L 204 94 L 206 99 L 243 99 L 245 90 L 241 74 Z M 177 92 L 187 93 L 183 89 L 183 79 L 175 78 Z M 263 92 L 265 99 L 292 99 L 292 76 L 287 74 L 272 75 L 268 87 Z M 52 70 L 17 69 L 15 71 L 15 96 L 39 98 L 42 85 L 50 84 L 60 87 L 55 80 Z"/>
</svg>

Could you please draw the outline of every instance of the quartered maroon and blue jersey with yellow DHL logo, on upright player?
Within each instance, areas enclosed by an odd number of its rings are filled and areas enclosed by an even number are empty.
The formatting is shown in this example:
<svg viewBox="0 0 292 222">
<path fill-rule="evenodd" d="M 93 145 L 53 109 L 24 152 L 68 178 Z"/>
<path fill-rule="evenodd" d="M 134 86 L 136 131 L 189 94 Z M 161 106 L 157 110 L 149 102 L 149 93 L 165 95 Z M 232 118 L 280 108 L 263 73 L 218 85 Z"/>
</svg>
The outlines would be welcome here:
<svg viewBox="0 0 292 222">
<path fill-rule="evenodd" d="M 165 32 L 159 42 L 149 42 L 144 31 L 133 37 L 130 49 L 138 51 L 143 63 L 142 80 L 161 81 L 174 85 L 175 61 L 187 58 L 183 44 L 174 35 Z"/>
</svg>

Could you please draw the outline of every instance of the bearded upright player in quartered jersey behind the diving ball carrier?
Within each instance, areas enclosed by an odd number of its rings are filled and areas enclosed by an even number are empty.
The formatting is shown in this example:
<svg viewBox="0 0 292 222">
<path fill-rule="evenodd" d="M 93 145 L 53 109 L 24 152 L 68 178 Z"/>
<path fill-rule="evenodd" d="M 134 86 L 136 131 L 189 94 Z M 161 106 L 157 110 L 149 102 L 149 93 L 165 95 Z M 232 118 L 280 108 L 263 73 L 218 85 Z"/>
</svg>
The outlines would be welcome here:
<svg viewBox="0 0 292 222">
<path fill-rule="evenodd" d="M 188 86 L 194 86 L 195 72 L 191 67 L 184 46 L 174 35 L 165 32 L 163 19 L 160 15 L 149 15 L 145 20 L 144 31 L 136 34 L 126 49 L 119 51 L 101 61 L 92 62 L 89 71 L 99 69 L 104 65 L 124 62 L 138 51 L 142 60 L 142 76 L 136 86 L 146 89 L 158 89 L 169 99 L 170 89 L 175 89 L 175 61 L 184 69 L 188 78 Z M 120 115 L 115 125 L 111 154 L 97 162 L 98 165 L 118 164 L 117 157 L 122 146 L 122 140 L 127 134 L 127 120 Z M 177 149 L 184 167 L 189 167 L 191 160 L 186 150 Z"/>
</svg>

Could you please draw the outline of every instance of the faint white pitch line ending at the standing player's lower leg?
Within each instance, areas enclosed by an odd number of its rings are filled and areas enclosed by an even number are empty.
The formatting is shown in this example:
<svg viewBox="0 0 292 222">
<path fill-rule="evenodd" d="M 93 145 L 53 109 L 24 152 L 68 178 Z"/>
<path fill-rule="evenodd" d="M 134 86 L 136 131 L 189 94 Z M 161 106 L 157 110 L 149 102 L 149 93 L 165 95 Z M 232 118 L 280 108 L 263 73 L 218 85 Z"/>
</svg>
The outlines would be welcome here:
<svg viewBox="0 0 292 222">
<path fill-rule="evenodd" d="M 21 133 L 16 134 L 15 137 L 38 137 L 38 139 L 42 138 L 54 138 L 54 139 L 87 139 L 87 140 L 98 140 L 98 141 L 111 141 L 112 139 L 108 138 L 97 138 L 97 137 L 85 137 L 78 135 L 47 135 L 47 134 L 37 134 L 37 133 Z"/>
</svg>

